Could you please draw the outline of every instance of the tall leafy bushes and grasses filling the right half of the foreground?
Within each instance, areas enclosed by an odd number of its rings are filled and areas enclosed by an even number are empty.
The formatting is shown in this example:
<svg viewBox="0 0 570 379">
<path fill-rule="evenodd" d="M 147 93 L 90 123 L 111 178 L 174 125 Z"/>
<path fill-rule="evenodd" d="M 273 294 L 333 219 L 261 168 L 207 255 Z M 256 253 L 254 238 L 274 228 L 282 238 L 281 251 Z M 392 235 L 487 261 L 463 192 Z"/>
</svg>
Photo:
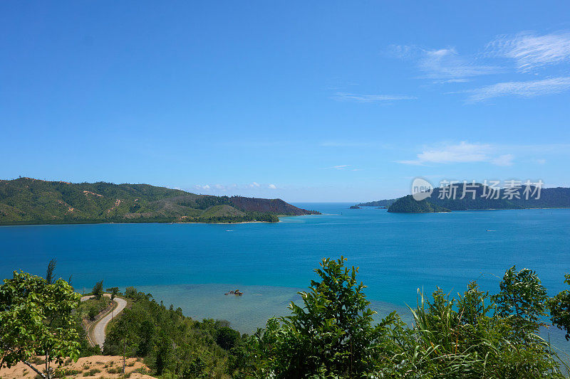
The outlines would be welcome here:
<svg viewBox="0 0 570 379">
<path fill-rule="evenodd" d="M 512 267 L 496 297 L 475 282 L 457 298 L 420 294 L 411 327 L 395 312 L 373 326 L 358 270 L 343 259 L 316 272 L 321 282 L 300 293 L 302 306 L 232 349 L 234 378 L 564 377 L 565 364 L 533 333 L 546 300 L 534 272 Z"/>
</svg>

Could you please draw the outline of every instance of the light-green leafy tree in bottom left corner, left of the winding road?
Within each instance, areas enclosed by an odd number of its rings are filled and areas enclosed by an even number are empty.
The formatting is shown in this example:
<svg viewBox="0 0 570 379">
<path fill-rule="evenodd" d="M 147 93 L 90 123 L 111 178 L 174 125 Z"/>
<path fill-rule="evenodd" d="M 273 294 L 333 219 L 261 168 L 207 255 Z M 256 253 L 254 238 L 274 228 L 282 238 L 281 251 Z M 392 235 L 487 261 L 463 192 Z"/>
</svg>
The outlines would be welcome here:
<svg viewBox="0 0 570 379">
<path fill-rule="evenodd" d="M 81 344 L 73 309 L 81 295 L 63 279 L 51 280 L 26 272 L 14 272 L 0 286 L 0 369 L 20 361 L 38 375 L 51 377 L 51 362 L 77 359 Z M 43 373 L 28 363 L 45 357 Z"/>
</svg>

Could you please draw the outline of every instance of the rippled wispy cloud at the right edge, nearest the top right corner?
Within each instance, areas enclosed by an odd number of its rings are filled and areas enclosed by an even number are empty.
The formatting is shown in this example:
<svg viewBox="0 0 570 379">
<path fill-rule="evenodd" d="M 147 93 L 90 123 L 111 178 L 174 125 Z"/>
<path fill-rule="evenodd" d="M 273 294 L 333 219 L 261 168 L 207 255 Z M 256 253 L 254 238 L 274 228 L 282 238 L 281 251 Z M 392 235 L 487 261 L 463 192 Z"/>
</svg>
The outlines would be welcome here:
<svg viewBox="0 0 570 379">
<path fill-rule="evenodd" d="M 570 33 L 519 33 L 498 36 L 487 45 L 487 54 L 512 58 L 524 72 L 545 65 L 570 62 Z"/>
</svg>

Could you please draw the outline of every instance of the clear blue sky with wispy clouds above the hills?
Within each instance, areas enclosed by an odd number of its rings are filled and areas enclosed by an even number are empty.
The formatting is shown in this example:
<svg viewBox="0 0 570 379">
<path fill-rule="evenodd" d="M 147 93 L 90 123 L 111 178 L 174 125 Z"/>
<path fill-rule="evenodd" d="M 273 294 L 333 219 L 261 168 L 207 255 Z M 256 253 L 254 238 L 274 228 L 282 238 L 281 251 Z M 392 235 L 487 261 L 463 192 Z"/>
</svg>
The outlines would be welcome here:
<svg viewBox="0 0 570 379">
<path fill-rule="evenodd" d="M 2 1 L 0 178 L 570 186 L 568 1 Z"/>
</svg>

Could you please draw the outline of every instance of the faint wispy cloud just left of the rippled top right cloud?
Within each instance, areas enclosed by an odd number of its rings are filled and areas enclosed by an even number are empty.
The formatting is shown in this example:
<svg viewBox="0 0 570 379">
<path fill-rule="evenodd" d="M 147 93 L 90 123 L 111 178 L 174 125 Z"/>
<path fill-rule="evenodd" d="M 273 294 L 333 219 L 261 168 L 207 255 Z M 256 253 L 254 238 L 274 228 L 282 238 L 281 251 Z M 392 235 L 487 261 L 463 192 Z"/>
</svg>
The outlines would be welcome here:
<svg viewBox="0 0 570 379">
<path fill-rule="evenodd" d="M 475 56 L 462 57 L 455 48 L 425 49 L 417 46 L 390 46 L 390 55 L 414 60 L 425 78 L 442 82 L 466 82 L 468 78 L 498 73 L 501 68 L 484 65 Z"/>
</svg>

